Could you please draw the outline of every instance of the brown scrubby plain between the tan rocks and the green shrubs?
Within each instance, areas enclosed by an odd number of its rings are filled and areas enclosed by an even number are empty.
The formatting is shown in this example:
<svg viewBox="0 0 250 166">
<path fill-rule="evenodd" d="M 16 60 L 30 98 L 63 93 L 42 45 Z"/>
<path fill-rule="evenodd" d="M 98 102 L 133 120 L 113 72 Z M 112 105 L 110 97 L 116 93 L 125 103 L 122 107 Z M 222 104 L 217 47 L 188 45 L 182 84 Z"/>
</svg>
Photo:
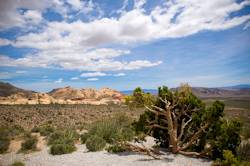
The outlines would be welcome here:
<svg viewBox="0 0 250 166">
<path fill-rule="evenodd" d="M 119 112 L 136 118 L 143 111 L 144 109 L 130 110 L 121 105 L 0 105 L 0 124 L 20 125 L 26 130 L 44 124 L 58 128 L 79 128 Z"/>
</svg>

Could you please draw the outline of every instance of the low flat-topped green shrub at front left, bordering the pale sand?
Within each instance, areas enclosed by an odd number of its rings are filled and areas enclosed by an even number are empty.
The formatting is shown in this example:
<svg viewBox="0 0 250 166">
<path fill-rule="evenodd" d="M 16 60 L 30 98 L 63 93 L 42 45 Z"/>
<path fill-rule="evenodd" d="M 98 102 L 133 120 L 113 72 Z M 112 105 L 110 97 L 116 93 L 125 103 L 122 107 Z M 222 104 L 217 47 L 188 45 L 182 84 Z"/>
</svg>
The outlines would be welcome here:
<svg viewBox="0 0 250 166">
<path fill-rule="evenodd" d="M 76 150 L 74 144 L 53 144 L 50 148 L 50 153 L 53 155 L 72 153 Z"/>
</svg>

